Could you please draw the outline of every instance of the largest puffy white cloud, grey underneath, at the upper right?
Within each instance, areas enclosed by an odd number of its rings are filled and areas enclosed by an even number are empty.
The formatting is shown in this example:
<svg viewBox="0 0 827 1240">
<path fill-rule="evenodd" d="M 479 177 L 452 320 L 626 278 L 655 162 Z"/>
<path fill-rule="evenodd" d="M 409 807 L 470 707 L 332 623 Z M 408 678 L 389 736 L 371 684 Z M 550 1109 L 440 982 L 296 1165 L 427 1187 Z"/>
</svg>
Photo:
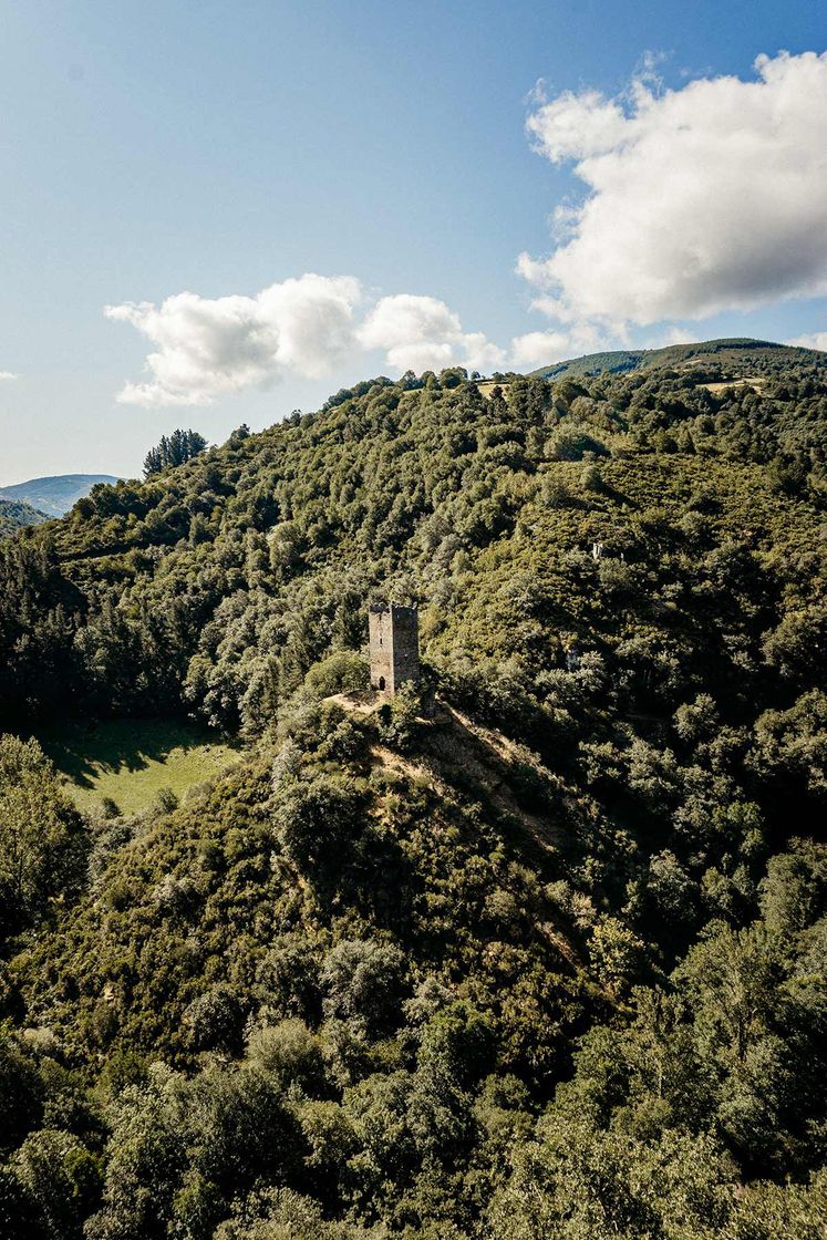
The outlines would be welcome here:
<svg viewBox="0 0 827 1240">
<path fill-rule="evenodd" d="M 518 270 L 562 322 L 653 324 L 827 293 L 827 53 L 624 95 L 567 92 L 528 119 L 586 187 Z"/>
</svg>

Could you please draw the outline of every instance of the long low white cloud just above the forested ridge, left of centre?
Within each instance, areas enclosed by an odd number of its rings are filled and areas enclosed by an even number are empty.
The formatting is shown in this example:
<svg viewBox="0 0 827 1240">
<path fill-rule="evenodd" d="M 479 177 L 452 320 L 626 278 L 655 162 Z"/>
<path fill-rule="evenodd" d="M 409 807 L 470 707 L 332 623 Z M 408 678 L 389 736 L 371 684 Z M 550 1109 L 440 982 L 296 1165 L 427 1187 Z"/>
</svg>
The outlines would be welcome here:
<svg viewBox="0 0 827 1240">
<path fill-rule="evenodd" d="M 118 401 L 145 408 L 212 404 L 286 374 L 319 378 L 371 350 L 382 350 L 400 373 L 451 365 L 490 370 L 505 361 L 503 350 L 482 332 L 462 331 L 459 316 L 436 298 L 382 298 L 357 321 L 363 301 L 355 277 L 306 274 L 254 296 L 177 293 L 160 305 L 105 306 L 108 319 L 131 324 L 155 346 L 148 378 L 126 383 Z"/>
</svg>

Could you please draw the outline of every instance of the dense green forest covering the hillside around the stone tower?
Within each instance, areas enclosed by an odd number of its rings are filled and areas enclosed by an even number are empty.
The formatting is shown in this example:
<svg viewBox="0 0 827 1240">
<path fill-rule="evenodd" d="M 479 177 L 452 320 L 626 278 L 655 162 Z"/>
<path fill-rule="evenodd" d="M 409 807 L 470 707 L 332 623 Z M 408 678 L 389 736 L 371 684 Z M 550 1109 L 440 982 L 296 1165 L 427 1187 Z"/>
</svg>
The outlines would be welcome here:
<svg viewBox="0 0 827 1240">
<path fill-rule="evenodd" d="M 378 378 L 0 543 L 0 1235 L 823 1240 L 827 357 L 738 365 Z M 30 738 L 124 715 L 243 755 L 82 815 Z"/>
</svg>

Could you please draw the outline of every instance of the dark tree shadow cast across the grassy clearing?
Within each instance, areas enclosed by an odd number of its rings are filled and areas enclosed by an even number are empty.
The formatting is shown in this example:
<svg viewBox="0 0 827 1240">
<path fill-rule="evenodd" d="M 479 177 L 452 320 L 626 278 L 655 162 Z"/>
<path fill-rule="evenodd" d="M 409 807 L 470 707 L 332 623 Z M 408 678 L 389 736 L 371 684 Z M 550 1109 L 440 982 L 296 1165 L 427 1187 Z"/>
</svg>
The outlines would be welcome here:
<svg viewBox="0 0 827 1240">
<path fill-rule="evenodd" d="M 172 750 L 237 748 L 205 728 L 164 719 L 74 719 L 43 729 L 37 739 L 57 769 L 84 789 L 104 774 L 162 764 Z"/>
</svg>

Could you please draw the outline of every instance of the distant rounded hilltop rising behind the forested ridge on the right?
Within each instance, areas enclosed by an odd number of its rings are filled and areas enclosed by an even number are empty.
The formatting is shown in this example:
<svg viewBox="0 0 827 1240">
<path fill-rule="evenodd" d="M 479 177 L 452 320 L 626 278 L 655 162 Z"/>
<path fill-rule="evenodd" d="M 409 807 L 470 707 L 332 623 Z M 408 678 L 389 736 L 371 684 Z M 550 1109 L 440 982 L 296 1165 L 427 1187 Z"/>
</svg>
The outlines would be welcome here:
<svg viewBox="0 0 827 1240">
<path fill-rule="evenodd" d="M 663 348 L 619 348 L 586 353 L 584 357 L 539 366 L 532 373 L 542 378 L 562 378 L 564 374 L 624 374 L 661 367 L 709 371 L 715 378 L 738 378 L 744 373 L 764 374 L 802 365 L 827 370 L 827 353 L 815 348 L 776 345 L 769 340 L 732 339 L 668 345 Z"/>
</svg>

